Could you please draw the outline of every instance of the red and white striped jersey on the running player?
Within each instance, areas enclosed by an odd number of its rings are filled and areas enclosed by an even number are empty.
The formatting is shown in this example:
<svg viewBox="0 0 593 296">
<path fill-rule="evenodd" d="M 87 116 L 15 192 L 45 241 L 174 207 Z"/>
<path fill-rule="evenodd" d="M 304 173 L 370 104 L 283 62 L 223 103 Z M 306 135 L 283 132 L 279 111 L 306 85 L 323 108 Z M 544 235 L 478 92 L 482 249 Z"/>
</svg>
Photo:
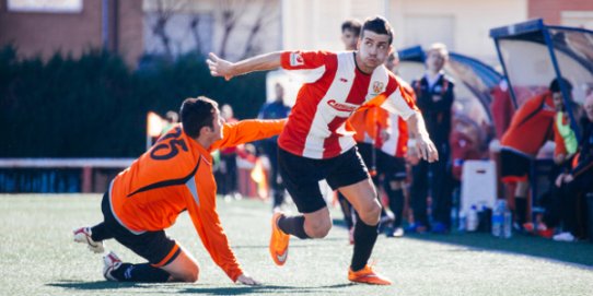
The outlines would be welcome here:
<svg viewBox="0 0 593 296">
<path fill-rule="evenodd" d="M 283 150 L 309 158 L 332 158 L 356 145 L 345 125 L 363 105 L 381 105 L 407 119 L 417 107 L 384 66 L 365 74 L 354 52 L 286 51 L 282 68 L 307 70 L 288 123 L 278 139 Z"/>
</svg>

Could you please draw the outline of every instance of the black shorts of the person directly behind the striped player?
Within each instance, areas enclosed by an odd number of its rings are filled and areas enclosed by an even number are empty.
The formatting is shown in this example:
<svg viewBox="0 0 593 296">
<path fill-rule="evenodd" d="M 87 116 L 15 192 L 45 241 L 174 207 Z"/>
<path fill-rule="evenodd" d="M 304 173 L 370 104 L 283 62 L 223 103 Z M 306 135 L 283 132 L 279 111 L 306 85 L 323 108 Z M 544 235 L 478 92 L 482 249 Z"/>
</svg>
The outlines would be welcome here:
<svg viewBox="0 0 593 296">
<path fill-rule="evenodd" d="M 405 180 L 406 173 L 406 159 L 404 157 L 395 157 L 379 149 L 374 149 L 370 143 L 357 143 L 360 156 L 368 168 L 373 167 L 376 169 L 376 176 L 384 175 L 389 180 Z M 374 151 L 374 161 L 373 161 Z M 377 181 L 377 180 L 373 180 Z"/>
</svg>

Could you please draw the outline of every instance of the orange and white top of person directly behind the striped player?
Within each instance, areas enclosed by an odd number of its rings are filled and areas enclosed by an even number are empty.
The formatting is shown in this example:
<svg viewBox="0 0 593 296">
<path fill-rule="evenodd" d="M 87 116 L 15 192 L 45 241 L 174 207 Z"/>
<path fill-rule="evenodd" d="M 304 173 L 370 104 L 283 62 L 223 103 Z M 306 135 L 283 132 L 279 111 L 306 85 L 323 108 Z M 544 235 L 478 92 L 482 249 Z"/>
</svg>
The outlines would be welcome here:
<svg viewBox="0 0 593 296">
<path fill-rule="evenodd" d="M 399 83 L 402 91 L 416 102 L 414 88 L 402 80 L 395 76 Z M 357 142 L 373 143 L 377 149 L 388 155 L 404 157 L 408 151 L 408 123 L 400 116 L 388 113 L 379 105 L 360 108 L 348 122 L 357 133 L 354 140 Z M 381 139 L 382 131 L 385 130 L 388 134 L 387 139 Z"/>
</svg>

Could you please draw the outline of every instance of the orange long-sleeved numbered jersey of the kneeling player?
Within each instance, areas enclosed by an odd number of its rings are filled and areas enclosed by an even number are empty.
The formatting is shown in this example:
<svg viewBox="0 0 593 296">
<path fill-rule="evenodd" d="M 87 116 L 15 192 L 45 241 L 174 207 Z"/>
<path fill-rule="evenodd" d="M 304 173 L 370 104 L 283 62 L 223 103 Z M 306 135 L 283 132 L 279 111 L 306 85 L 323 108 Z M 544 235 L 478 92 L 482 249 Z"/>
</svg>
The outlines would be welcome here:
<svg viewBox="0 0 593 296">
<path fill-rule="evenodd" d="M 202 147 L 176 125 L 109 189 L 112 212 L 132 233 L 165 229 L 187 211 L 212 260 L 236 281 L 243 273 L 217 213 L 210 152 L 280 133 L 286 120 L 244 120 L 223 126 L 223 139 Z"/>
</svg>

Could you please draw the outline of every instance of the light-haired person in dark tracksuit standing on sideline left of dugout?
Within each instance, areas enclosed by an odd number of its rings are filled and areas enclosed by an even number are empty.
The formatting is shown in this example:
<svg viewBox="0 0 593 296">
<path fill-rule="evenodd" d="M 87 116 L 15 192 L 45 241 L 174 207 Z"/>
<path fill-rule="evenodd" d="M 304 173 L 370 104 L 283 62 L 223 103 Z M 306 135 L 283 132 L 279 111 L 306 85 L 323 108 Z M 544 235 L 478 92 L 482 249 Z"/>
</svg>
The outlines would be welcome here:
<svg viewBox="0 0 593 296">
<path fill-rule="evenodd" d="M 415 223 L 408 228 L 412 233 L 423 233 L 429 226 L 433 233 L 446 233 L 451 222 L 452 179 L 449 137 L 455 85 L 443 72 L 447 60 L 446 47 L 443 44 L 433 44 L 427 50 L 425 75 L 411 83 L 417 97 L 416 104 L 422 111 L 427 130 L 439 151 L 439 162 L 432 164 L 420 162 L 412 167 L 410 197 Z M 432 198 L 432 225 L 427 214 L 429 192 Z"/>
</svg>

